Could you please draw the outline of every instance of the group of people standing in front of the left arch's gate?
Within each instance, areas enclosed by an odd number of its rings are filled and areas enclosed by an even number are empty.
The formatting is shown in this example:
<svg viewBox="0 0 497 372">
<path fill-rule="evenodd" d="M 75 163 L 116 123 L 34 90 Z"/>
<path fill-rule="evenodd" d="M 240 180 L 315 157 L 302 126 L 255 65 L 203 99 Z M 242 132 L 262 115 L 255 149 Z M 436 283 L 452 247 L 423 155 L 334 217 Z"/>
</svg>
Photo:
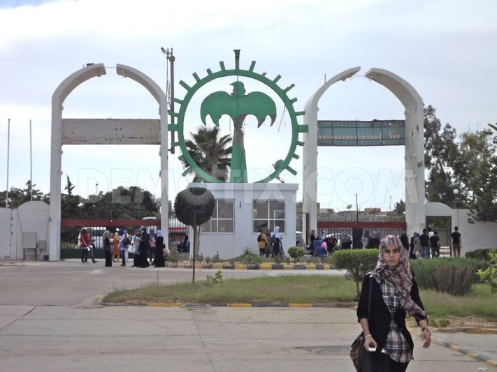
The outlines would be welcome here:
<svg viewBox="0 0 497 372">
<path fill-rule="evenodd" d="M 87 229 L 80 230 L 78 245 L 81 249 L 82 263 L 86 263 L 88 258 L 91 258 L 94 263 L 97 262 L 93 256 L 93 240 Z M 119 259 L 121 259 L 121 266 L 126 266 L 129 252 L 133 253 L 132 267 L 166 266 L 164 262 L 164 248 L 166 246 L 161 230 L 155 234 L 154 230 L 150 230 L 148 233 L 146 228 L 136 229 L 132 236 L 122 228 L 113 235 L 109 230 L 106 230 L 102 234 L 102 243 L 106 267 L 111 267 L 113 262 L 119 262 Z"/>
</svg>

